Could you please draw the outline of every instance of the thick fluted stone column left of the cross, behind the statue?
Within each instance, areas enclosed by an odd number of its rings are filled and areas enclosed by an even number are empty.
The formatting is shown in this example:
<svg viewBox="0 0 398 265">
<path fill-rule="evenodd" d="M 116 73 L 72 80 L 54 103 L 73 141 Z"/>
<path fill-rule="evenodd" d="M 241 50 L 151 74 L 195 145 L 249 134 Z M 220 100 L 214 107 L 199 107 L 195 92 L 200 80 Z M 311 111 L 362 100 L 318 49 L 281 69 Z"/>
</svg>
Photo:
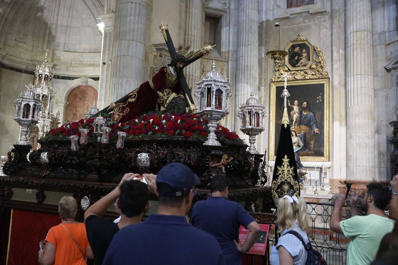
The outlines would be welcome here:
<svg viewBox="0 0 398 265">
<path fill-rule="evenodd" d="M 147 0 L 116 4 L 110 98 L 127 95 L 143 82 Z"/>
</svg>

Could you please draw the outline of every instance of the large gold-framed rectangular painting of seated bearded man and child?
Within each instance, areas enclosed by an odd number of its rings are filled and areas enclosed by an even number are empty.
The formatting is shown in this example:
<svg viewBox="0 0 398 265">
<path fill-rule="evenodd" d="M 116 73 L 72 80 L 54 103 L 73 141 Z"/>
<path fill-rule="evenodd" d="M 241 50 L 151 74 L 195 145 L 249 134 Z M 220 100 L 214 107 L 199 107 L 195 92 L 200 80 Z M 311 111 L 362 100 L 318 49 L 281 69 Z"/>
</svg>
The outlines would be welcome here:
<svg viewBox="0 0 398 265">
<path fill-rule="evenodd" d="M 284 108 L 283 88 L 283 81 L 271 82 L 270 160 L 275 160 L 278 149 Z M 290 130 L 302 143 L 301 161 L 329 161 L 329 79 L 288 81 L 287 89 L 290 93 L 287 102 Z"/>
</svg>

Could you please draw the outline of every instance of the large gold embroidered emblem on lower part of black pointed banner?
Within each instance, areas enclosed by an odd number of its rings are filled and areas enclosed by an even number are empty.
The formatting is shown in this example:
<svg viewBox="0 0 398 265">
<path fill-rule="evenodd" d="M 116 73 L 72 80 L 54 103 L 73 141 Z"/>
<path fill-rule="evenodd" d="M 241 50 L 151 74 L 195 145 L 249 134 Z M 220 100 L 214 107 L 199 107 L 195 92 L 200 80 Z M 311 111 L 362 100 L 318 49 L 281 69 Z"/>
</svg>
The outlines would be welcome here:
<svg viewBox="0 0 398 265">
<path fill-rule="evenodd" d="M 277 179 L 272 182 L 271 193 L 275 205 L 278 205 L 278 199 L 285 195 L 298 196 L 298 182 L 293 179 L 293 166 L 289 166 L 287 155 L 282 159 L 282 166 L 277 166 Z"/>
</svg>

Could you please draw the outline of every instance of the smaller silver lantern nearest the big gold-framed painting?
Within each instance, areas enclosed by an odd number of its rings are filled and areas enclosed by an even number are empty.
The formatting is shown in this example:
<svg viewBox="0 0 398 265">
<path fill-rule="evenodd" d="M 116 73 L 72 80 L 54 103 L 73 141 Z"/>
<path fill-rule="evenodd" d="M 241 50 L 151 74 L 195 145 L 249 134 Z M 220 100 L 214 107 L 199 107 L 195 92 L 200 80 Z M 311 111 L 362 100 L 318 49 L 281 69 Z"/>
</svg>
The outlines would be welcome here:
<svg viewBox="0 0 398 265">
<path fill-rule="evenodd" d="M 240 130 L 249 135 L 250 146 L 248 153 L 258 154 L 254 143 L 256 143 L 256 135 L 264 130 L 265 110 L 263 104 L 258 103 L 258 100 L 253 96 L 252 91 L 246 104 L 242 104 L 239 107 L 238 116 L 240 119 Z"/>
</svg>

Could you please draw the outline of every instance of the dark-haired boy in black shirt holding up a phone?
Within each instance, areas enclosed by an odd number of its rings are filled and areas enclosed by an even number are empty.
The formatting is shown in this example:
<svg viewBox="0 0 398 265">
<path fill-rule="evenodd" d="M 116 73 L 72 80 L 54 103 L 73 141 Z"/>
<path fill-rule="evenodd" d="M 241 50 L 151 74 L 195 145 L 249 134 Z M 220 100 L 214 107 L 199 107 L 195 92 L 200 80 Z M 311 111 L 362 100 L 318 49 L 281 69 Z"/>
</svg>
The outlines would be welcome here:
<svg viewBox="0 0 398 265">
<path fill-rule="evenodd" d="M 121 228 L 139 223 L 150 207 L 148 186 L 139 180 L 133 180 L 137 176 L 139 174 L 125 174 L 115 190 L 91 205 L 84 213 L 88 242 L 96 265 L 102 264 L 113 236 Z M 118 223 L 102 217 L 115 200 L 121 210 Z"/>
</svg>

